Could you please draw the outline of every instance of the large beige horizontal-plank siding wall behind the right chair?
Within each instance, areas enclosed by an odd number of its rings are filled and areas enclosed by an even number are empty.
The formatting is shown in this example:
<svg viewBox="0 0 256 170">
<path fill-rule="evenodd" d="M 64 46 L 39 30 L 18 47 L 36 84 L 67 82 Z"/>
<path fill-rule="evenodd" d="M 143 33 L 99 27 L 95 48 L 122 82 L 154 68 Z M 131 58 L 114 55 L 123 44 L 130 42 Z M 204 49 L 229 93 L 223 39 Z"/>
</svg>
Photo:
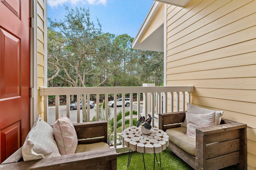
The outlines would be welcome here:
<svg viewBox="0 0 256 170">
<path fill-rule="evenodd" d="M 246 123 L 256 167 L 256 0 L 191 0 L 167 6 L 167 86 L 194 85 L 192 104 Z"/>
</svg>

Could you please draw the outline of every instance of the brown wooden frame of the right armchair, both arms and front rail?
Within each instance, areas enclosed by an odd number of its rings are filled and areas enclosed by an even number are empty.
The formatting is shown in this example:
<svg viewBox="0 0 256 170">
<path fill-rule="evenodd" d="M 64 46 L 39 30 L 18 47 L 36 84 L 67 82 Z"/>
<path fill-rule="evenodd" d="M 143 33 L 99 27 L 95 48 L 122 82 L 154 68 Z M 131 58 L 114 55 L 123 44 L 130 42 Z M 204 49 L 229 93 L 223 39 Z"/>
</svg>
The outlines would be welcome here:
<svg viewBox="0 0 256 170">
<path fill-rule="evenodd" d="M 159 129 L 180 127 L 186 112 L 160 113 Z M 236 165 L 247 169 L 246 124 L 222 119 L 220 125 L 196 129 L 196 156 L 170 141 L 168 148 L 196 170 L 218 170 Z"/>
</svg>

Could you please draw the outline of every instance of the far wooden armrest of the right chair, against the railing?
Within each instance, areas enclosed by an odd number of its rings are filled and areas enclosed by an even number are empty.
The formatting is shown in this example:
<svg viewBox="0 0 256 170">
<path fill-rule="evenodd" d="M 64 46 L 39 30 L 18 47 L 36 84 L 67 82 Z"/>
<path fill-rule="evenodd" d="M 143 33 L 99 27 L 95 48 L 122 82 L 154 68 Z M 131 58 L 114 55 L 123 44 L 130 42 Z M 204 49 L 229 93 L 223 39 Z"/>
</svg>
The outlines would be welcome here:
<svg viewBox="0 0 256 170">
<path fill-rule="evenodd" d="M 159 129 L 166 131 L 166 129 L 180 127 L 186 117 L 185 111 L 172 112 L 172 113 L 159 113 Z"/>
</svg>

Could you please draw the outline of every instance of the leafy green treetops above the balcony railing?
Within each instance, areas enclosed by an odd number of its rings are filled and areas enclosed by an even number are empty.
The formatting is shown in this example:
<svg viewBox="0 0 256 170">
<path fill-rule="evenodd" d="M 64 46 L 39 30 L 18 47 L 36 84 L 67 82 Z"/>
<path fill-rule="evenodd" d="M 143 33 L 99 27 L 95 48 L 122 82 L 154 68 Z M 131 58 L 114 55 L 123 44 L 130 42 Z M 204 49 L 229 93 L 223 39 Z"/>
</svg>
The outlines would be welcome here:
<svg viewBox="0 0 256 170">
<path fill-rule="evenodd" d="M 162 85 L 163 53 L 132 49 L 127 34 L 102 33 L 89 8 L 65 10 L 63 20 L 48 18 L 48 86 Z"/>
</svg>

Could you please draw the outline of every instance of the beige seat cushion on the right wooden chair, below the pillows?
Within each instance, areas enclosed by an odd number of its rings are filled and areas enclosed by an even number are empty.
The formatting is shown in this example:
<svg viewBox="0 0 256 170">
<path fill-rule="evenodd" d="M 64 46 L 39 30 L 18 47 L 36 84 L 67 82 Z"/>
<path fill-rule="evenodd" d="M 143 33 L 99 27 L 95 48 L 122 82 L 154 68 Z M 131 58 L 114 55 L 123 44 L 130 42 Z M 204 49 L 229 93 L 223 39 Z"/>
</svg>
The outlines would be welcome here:
<svg viewBox="0 0 256 170">
<path fill-rule="evenodd" d="M 186 135 L 186 127 L 167 129 L 166 133 L 168 134 L 170 141 L 180 147 L 180 149 L 185 150 L 194 156 L 196 155 L 196 138 L 188 137 Z"/>
</svg>

